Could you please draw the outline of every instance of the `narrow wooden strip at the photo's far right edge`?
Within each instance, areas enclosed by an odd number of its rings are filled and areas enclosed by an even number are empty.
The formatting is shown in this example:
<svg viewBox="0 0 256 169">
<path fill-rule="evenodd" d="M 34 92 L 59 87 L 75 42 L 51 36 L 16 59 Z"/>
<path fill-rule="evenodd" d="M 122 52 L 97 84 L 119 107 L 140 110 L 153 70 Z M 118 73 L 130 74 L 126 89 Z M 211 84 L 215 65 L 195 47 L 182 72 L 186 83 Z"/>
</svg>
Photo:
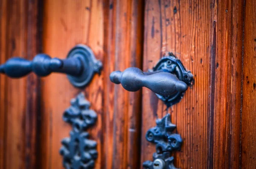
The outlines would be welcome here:
<svg viewBox="0 0 256 169">
<path fill-rule="evenodd" d="M 256 166 L 256 3 L 246 0 L 244 20 L 244 58 L 243 58 L 243 106 L 241 129 L 241 163 L 242 169 Z"/>
</svg>

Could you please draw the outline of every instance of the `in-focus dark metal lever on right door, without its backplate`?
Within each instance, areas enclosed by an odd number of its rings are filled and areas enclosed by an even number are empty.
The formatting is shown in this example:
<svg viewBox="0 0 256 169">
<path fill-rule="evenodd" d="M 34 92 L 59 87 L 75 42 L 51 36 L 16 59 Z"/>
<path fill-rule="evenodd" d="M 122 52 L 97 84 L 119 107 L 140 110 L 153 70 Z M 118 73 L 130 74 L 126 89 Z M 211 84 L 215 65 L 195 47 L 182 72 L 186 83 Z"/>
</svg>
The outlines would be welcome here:
<svg viewBox="0 0 256 169">
<path fill-rule="evenodd" d="M 130 91 L 135 92 L 141 87 L 147 87 L 154 93 L 169 96 L 176 92 L 184 92 L 188 85 L 180 81 L 174 74 L 168 72 L 142 72 L 131 67 L 124 72 L 115 71 L 110 74 L 111 82 L 119 84 Z"/>
</svg>

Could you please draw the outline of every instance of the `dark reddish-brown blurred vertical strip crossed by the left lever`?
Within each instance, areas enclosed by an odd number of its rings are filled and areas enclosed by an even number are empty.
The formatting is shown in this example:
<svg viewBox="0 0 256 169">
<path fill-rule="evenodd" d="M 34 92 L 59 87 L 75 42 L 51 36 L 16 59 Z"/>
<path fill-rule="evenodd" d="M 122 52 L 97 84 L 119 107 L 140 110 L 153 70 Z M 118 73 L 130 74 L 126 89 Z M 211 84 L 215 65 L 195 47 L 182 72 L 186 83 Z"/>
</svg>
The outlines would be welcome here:
<svg viewBox="0 0 256 169">
<path fill-rule="evenodd" d="M 41 9 L 40 0 L 28 0 L 27 4 L 27 59 L 33 60 L 40 52 L 41 44 Z M 29 74 L 26 89 L 26 149 L 25 149 L 25 168 L 35 169 L 40 161 L 40 80 L 36 74 Z"/>
</svg>

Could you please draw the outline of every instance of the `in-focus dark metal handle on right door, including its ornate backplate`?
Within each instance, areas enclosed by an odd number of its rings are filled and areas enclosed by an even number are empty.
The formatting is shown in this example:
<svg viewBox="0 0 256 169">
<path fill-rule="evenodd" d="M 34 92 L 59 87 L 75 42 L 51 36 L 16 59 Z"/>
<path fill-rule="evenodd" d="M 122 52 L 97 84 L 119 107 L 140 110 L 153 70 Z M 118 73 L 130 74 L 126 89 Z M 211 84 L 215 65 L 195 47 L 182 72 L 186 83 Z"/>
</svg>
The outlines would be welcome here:
<svg viewBox="0 0 256 169">
<path fill-rule="evenodd" d="M 142 72 L 138 68 L 131 67 L 124 72 L 112 72 L 110 80 L 116 84 L 121 83 L 130 92 L 147 87 L 155 92 L 167 107 L 179 103 L 188 86 L 194 83 L 192 73 L 186 71 L 181 61 L 171 52 L 148 71 Z"/>
</svg>

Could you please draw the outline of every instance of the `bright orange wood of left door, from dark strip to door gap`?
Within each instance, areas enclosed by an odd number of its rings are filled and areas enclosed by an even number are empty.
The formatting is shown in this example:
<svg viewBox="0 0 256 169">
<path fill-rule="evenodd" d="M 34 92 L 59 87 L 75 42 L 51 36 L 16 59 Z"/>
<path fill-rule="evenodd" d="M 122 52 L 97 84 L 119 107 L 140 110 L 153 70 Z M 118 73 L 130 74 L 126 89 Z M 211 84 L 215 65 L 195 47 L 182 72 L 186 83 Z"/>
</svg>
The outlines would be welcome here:
<svg viewBox="0 0 256 169">
<path fill-rule="evenodd" d="M 56 7 L 57 6 L 57 7 Z M 129 94 L 113 85 L 109 74 L 141 66 L 142 1 L 102 2 L 55 0 L 44 3 L 43 52 L 65 58 L 76 44 L 89 46 L 104 66 L 84 90 L 98 115 L 89 131 L 98 143 L 96 169 L 139 166 L 140 92 Z M 79 90 L 63 75 L 54 74 L 42 83 L 42 168 L 61 168 L 61 139 L 71 126 L 62 120 L 70 99 Z"/>
</svg>

